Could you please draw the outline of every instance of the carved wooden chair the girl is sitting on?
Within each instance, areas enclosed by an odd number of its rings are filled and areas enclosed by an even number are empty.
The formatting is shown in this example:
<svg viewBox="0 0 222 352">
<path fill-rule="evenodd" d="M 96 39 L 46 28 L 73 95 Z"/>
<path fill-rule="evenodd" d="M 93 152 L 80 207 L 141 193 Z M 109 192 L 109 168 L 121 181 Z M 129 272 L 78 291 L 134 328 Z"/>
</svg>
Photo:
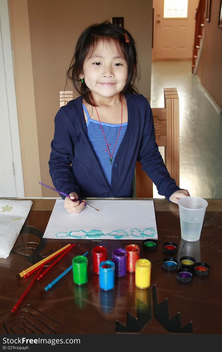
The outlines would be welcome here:
<svg viewBox="0 0 222 352">
<path fill-rule="evenodd" d="M 60 107 L 73 99 L 73 91 L 60 92 Z M 164 107 L 152 108 L 157 145 L 164 147 L 164 163 L 171 177 L 179 186 L 180 136 L 179 98 L 176 88 L 164 88 Z M 136 197 L 153 198 L 153 182 L 136 162 Z"/>
</svg>

